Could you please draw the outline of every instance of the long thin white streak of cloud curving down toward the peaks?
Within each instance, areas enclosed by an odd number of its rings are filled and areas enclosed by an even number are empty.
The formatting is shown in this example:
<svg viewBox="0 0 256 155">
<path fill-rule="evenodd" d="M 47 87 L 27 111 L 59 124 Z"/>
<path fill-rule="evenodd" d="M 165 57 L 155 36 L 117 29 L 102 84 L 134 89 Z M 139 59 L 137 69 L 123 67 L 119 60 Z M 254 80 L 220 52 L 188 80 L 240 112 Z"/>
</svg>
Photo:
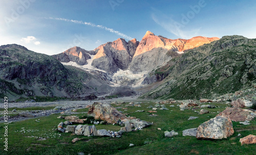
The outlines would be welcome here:
<svg viewBox="0 0 256 155">
<path fill-rule="evenodd" d="M 107 28 L 105 26 L 102 26 L 102 25 L 95 25 L 93 23 L 88 23 L 88 22 L 84 22 L 84 21 L 81 21 L 81 20 L 72 20 L 72 19 L 65 19 L 65 18 L 53 18 L 53 17 L 49 17 L 49 18 L 46 18 L 46 19 L 54 19 L 54 20 L 62 20 L 62 21 L 67 21 L 67 22 L 72 22 L 72 23 L 75 23 L 75 24 L 83 24 L 83 25 L 88 25 L 88 26 L 91 26 L 91 27 L 96 27 L 96 28 L 99 28 L 99 29 L 104 29 L 106 31 L 109 31 L 111 33 L 115 33 L 125 39 L 133 39 L 132 37 L 130 36 L 127 36 L 119 31 L 116 31 L 114 29 L 111 29 L 111 28 Z"/>
</svg>

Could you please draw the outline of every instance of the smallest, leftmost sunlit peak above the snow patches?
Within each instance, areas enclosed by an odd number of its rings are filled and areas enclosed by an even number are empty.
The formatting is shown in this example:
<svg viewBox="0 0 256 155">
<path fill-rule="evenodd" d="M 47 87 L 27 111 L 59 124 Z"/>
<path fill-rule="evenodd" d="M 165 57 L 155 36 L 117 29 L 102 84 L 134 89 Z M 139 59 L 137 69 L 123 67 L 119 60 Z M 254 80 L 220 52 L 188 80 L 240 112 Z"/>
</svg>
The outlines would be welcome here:
<svg viewBox="0 0 256 155">
<path fill-rule="evenodd" d="M 87 64 L 87 60 L 91 58 L 88 53 L 93 54 L 92 52 L 86 51 L 79 47 L 73 47 L 66 50 L 65 52 L 52 56 L 60 62 L 73 61 L 76 62 L 78 65 L 84 65 Z"/>
</svg>

